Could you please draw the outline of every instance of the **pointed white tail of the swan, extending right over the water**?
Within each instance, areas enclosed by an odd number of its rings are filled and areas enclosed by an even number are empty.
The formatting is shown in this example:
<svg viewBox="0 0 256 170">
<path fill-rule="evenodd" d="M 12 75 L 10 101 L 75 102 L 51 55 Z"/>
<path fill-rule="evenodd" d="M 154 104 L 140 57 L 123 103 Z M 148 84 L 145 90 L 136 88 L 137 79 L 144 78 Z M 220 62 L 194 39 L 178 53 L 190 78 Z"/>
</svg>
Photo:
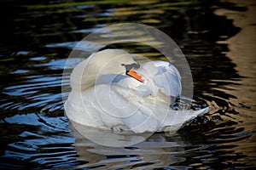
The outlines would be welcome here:
<svg viewBox="0 0 256 170">
<path fill-rule="evenodd" d="M 210 111 L 210 107 L 198 111 L 173 111 L 170 110 L 165 121 L 160 126 L 159 131 L 176 132 L 186 122 L 194 119 L 196 116 L 201 116 Z"/>
</svg>

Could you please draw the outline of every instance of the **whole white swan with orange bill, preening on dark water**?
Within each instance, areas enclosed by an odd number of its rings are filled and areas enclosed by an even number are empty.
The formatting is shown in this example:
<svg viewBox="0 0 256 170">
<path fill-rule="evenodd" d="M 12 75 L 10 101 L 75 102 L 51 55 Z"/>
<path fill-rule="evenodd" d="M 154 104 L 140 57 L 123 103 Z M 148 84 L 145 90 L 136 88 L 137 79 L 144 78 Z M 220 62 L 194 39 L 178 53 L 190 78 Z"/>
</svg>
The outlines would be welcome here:
<svg viewBox="0 0 256 170">
<path fill-rule="evenodd" d="M 124 50 L 91 54 L 71 74 L 72 91 L 65 102 L 67 117 L 89 127 L 134 133 L 177 130 L 209 111 L 174 111 L 181 77 L 166 61 L 138 65 Z"/>
</svg>

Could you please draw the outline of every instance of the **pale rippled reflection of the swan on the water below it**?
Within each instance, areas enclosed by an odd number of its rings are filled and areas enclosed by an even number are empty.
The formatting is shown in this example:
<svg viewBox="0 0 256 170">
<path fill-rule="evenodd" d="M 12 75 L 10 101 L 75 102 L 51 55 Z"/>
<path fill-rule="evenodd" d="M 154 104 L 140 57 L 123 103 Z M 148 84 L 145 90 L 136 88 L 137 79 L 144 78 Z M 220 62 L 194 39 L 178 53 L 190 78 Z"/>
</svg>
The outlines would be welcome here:
<svg viewBox="0 0 256 170">
<path fill-rule="evenodd" d="M 79 167 L 100 169 L 168 167 L 169 164 L 185 161 L 183 154 L 191 150 L 201 150 L 201 146 L 186 150 L 180 136 L 172 136 L 171 141 L 167 139 L 168 137 L 163 134 L 154 133 L 147 141 L 125 148 L 96 145 L 79 138 L 74 145 L 79 160 L 89 161 Z"/>
</svg>

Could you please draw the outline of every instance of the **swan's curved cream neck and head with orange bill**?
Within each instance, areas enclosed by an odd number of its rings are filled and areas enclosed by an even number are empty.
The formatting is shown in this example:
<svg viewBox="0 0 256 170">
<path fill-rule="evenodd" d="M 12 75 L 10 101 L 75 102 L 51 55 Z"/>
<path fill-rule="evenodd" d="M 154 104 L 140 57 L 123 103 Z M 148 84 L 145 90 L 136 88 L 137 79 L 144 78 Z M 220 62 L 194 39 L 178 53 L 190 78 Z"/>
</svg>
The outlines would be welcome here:
<svg viewBox="0 0 256 170">
<path fill-rule="evenodd" d="M 91 54 L 73 69 L 70 78 L 71 87 L 83 91 L 93 86 L 96 78 L 104 74 L 126 74 L 143 82 L 136 73 L 137 68 L 139 68 L 138 63 L 125 50 L 105 49 Z"/>
</svg>

